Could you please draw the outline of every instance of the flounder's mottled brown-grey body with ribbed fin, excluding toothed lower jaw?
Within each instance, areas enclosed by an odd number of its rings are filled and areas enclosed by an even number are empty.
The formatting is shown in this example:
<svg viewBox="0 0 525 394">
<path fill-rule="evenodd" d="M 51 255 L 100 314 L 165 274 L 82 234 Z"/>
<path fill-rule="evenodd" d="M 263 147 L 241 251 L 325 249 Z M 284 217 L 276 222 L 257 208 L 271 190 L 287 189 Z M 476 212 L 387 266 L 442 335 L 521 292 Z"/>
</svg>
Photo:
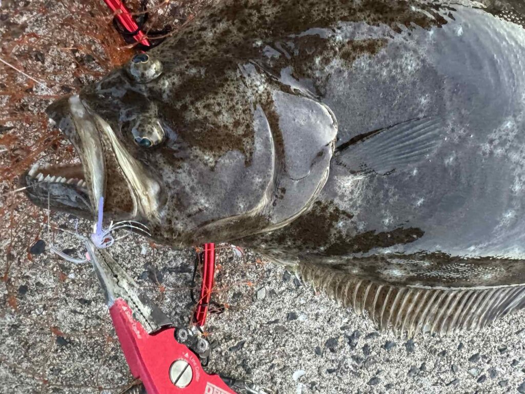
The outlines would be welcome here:
<svg viewBox="0 0 525 394">
<path fill-rule="evenodd" d="M 210 7 L 148 53 L 160 76 L 130 63 L 80 94 L 108 214 L 175 247 L 254 248 L 381 327 L 489 324 L 524 303 L 523 8 Z M 89 172 L 70 107 L 49 112 Z M 133 142 L 158 125 L 158 146 Z"/>
</svg>

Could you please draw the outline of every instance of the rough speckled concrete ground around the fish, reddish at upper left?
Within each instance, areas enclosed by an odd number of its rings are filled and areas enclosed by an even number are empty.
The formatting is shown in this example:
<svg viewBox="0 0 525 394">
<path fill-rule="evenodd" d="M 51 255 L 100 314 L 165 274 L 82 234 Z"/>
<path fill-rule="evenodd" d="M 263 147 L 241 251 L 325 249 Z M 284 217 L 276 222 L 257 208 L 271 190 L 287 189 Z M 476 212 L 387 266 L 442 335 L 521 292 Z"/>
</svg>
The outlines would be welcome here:
<svg viewBox="0 0 525 394">
<path fill-rule="evenodd" d="M 205 3 L 171 2 L 152 20 L 176 19 L 176 28 Z M 54 244 L 82 253 L 64 230 L 89 224 L 51 212 L 48 231 L 47 212 L 7 194 L 35 158 L 76 160 L 41 113 L 132 53 L 116 49 L 103 11 L 95 0 L 4 0 L 0 8 L 2 58 L 47 86 L 0 68 L 0 393 L 117 394 L 132 383 L 91 267 L 49 252 Z M 177 325 L 187 323 L 195 251 L 129 235 L 111 253 Z M 525 393 L 523 312 L 476 333 L 407 341 L 378 333 L 283 267 L 249 252 L 237 257 L 228 245 L 219 256 L 214 300 L 226 309 L 206 324 L 215 346 L 208 371 L 281 394 Z"/>
</svg>

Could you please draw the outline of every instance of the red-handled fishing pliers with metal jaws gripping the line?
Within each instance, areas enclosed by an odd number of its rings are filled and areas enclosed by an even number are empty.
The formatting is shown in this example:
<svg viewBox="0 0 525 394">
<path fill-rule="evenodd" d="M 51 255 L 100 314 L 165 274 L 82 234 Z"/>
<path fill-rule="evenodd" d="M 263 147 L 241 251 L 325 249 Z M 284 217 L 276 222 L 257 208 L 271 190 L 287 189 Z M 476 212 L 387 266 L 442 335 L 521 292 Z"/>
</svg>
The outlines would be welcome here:
<svg viewBox="0 0 525 394">
<path fill-rule="evenodd" d="M 177 341 L 183 333 L 176 336 L 171 320 L 106 250 L 89 239 L 86 248 L 131 373 L 148 394 L 236 394 L 204 371 L 197 354 Z"/>
</svg>

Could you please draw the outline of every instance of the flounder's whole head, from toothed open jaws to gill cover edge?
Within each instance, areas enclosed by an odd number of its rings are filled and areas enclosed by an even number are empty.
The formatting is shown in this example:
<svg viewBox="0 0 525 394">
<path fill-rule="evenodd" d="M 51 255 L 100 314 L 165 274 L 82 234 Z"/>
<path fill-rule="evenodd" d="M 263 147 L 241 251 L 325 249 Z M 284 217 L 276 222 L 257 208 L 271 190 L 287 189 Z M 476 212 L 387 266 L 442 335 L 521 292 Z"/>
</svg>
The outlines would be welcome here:
<svg viewBox="0 0 525 394">
<path fill-rule="evenodd" d="M 331 112 L 253 65 L 165 55 L 135 55 L 48 108 L 81 165 L 31 169 L 29 198 L 94 217 L 103 196 L 105 217 L 141 221 L 174 246 L 237 239 L 306 209 L 328 177 Z"/>
</svg>

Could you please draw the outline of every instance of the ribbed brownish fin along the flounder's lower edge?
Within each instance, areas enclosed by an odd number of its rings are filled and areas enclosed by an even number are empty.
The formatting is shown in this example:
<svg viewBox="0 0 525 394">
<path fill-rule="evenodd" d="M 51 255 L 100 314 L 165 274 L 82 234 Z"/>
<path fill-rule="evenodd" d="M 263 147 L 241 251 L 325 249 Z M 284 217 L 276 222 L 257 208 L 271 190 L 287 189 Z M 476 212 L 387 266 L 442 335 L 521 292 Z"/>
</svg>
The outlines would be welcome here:
<svg viewBox="0 0 525 394">
<path fill-rule="evenodd" d="M 476 330 L 525 306 L 525 285 L 479 288 L 398 286 L 300 264 L 305 282 L 339 300 L 355 313 L 368 315 L 380 329 L 400 336 L 444 335 Z"/>
</svg>

